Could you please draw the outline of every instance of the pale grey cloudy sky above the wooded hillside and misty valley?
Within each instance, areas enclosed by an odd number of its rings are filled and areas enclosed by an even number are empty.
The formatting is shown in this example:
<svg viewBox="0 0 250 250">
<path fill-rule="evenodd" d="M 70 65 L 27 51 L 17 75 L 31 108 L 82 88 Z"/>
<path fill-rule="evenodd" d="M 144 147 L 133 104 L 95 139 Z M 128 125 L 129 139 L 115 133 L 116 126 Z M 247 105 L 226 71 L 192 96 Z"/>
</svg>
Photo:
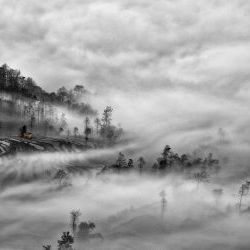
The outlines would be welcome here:
<svg viewBox="0 0 250 250">
<path fill-rule="evenodd" d="M 1 63 L 46 90 L 83 84 L 114 122 L 179 150 L 250 133 L 250 3 L 0 0 Z"/>
</svg>

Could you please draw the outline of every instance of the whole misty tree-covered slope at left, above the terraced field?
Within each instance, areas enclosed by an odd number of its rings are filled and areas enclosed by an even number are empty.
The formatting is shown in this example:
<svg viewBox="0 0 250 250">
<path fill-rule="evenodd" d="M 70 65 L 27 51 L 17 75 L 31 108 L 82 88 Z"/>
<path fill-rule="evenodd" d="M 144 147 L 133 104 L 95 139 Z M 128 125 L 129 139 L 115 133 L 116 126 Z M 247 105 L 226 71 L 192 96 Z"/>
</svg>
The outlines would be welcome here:
<svg viewBox="0 0 250 250">
<path fill-rule="evenodd" d="M 0 112 L 12 114 L 15 120 L 13 124 L 0 121 L 0 130 L 6 128 L 8 132 L 14 129 L 18 131 L 16 124 L 19 124 L 19 127 L 26 125 L 29 131 L 45 136 L 50 133 L 84 136 L 88 142 L 89 137 L 95 135 L 107 142 L 114 142 L 123 131 L 112 124 L 112 107 L 107 106 L 102 117 L 97 117 L 97 112 L 90 105 L 81 102 L 87 92 L 84 86 L 76 85 L 70 90 L 61 87 L 56 93 L 48 93 L 37 86 L 32 78 L 25 78 L 19 70 L 4 64 L 0 67 Z M 82 128 L 72 127 L 66 114 L 59 112 L 57 105 L 80 113 L 83 116 Z"/>
</svg>

